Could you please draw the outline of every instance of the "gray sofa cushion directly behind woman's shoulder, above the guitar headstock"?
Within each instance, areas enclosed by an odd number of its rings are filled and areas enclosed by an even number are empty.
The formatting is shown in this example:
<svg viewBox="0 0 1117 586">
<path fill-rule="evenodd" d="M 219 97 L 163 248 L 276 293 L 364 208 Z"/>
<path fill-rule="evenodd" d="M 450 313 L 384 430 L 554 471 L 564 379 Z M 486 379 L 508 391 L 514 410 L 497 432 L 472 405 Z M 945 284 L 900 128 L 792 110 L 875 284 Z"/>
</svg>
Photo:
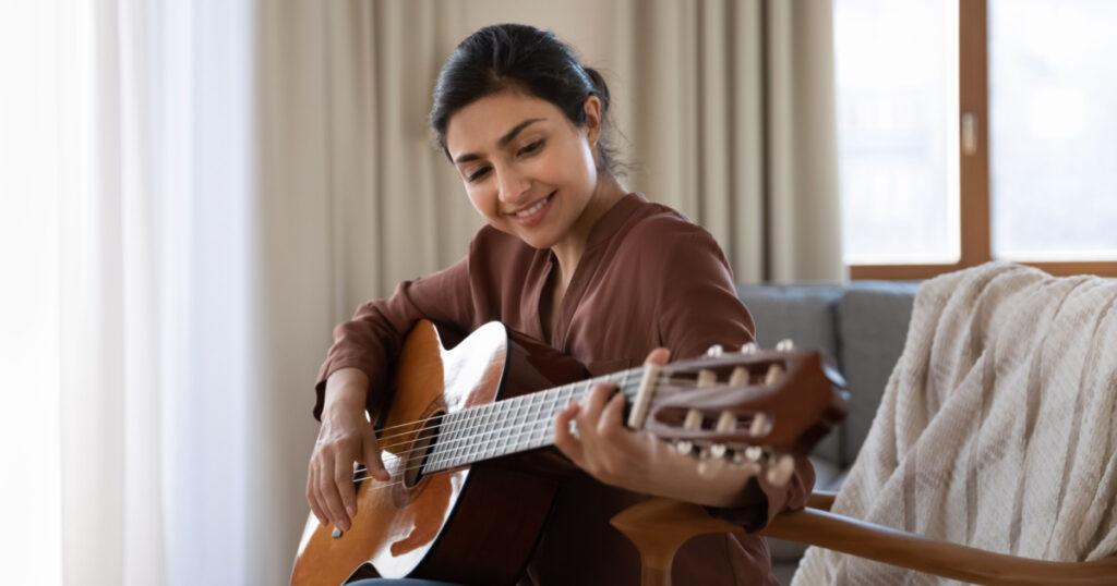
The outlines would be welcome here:
<svg viewBox="0 0 1117 586">
<path fill-rule="evenodd" d="M 843 291 L 838 285 L 737 286 L 737 295 L 756 321 L 756 343 L 762 348 L 786 338 L 801 348 L 818 348 L 834 366 L 839 356 L 834 319 Z M 840 434 L 827 435 L 813 453 L 840 462 Z"/>
</svg>

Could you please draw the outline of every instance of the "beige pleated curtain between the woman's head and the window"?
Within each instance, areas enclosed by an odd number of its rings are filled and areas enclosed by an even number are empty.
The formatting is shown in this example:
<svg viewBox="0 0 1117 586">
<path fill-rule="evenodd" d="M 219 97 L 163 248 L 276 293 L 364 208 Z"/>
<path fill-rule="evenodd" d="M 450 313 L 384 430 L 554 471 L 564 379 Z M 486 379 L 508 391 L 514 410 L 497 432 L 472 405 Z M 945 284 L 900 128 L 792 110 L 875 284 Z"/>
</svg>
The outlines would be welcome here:
<svg viewBox="0 0 1117 586">
<path fill-rule="evenodd" d="M 831 2 L 624 4 L 636 186 L 710 230 L 741 281 L 844 278 Z"/>
</svg>

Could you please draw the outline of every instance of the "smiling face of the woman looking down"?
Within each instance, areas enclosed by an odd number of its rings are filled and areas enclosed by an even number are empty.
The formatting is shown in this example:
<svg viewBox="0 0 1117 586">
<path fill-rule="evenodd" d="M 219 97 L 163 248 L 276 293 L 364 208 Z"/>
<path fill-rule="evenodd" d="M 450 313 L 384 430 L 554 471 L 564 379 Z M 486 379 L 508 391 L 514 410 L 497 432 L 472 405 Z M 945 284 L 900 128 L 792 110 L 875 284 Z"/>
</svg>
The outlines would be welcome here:
<svg viewBox="0 0 1117 586">
<path fill-rule="evenodd" d="M 497 230 L 553 248 L 579 227 L 598 183 L 600 103 L 577 127 L 555 105 L 512 92 L 450 117 L 446 147 L 474 208 Z"/>
</svg>

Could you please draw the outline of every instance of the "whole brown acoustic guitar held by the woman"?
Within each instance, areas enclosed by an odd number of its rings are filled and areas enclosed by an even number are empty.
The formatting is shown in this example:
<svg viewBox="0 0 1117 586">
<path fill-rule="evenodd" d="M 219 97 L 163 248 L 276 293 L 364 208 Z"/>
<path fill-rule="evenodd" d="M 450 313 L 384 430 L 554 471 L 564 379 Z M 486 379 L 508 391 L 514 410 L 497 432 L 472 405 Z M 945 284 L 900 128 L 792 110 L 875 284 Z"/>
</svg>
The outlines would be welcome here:
<svg viewBox="0 0 1117 586">
<path fill-rule="evenodd" d="M 761 463 L 777 482 L 791 475 L 792 455 L 846 414 L 844 383 L 818 352 L 714 347 L 703 358 L 586 376 L 499 323 L 452 349 L 433 324 L 419 323 L 375 422 L 391 480 L 357 470 L 349 531 L 309 516 L 292 585 L 376 576 L 514 584 L 558 486 L 515 454 L 553 445 L 557 414 L 599 383 L 627 395 L 629 426 L 696 458 Z"/>
</svg>

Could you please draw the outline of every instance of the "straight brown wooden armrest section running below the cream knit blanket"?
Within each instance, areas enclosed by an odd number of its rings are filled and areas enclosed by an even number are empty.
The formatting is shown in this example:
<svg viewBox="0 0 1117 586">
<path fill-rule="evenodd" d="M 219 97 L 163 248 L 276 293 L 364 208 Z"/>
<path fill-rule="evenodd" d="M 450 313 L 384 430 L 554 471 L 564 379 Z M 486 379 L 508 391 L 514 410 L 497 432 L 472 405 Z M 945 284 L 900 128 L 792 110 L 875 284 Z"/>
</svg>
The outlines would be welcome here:
<svg viewBox="0 0 1117 586">
<path fill-rule="evenodd" d="M 761 534 L 973 584 L 1117 584 L 1117 557 L 1060 563 L 1009 556 L 812 508 L 777 515 Z"/>
</svg>

